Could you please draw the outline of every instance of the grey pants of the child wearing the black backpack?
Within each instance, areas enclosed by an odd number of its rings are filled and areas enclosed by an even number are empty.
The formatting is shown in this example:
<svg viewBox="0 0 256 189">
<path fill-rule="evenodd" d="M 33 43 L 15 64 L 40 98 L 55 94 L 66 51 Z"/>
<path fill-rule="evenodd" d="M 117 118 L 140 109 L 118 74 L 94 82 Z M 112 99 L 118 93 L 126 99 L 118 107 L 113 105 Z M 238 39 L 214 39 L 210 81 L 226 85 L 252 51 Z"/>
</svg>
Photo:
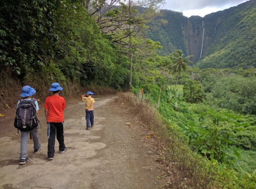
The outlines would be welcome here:
<svg viewBox="0 0 256 189">
<path fill-rule="evenodd" d="M 20 131 L 22 136 L 20 137 L 20 159 L 25 159 L 27 157 L 27 146 L 28 146 L 28 136 L 29 132 L 31 133 L 33 142 L 34 142 L 34 149 L 40 148 L 38 133 L 38 127 L 35 127 L 31 131 Z"/>
</svg>

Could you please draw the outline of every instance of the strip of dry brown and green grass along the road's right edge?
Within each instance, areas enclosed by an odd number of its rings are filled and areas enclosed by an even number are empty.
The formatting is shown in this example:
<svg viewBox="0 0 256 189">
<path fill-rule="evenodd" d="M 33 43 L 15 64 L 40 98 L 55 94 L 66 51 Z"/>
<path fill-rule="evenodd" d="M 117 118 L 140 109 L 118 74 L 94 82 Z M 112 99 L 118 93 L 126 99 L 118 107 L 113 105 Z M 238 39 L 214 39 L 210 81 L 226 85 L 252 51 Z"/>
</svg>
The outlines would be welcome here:
<svg viewBox="0 0 256 189">
<path fill-rule="evenodd" d="M 157 109 L 141 97 L 132 93 L 118 93 L 118 103 L 133 107 L 131 113 L 138 115 L 139 120 L 154 131 L 164 144 L 165 161 L 169 167 L 169 182 L 165 188 L 253 188 L 249 176 L 239 175 L 227 169 L 215 160 L 192 151 L 179 136 L 172 125 L 168 125 Z"/>
</svg>

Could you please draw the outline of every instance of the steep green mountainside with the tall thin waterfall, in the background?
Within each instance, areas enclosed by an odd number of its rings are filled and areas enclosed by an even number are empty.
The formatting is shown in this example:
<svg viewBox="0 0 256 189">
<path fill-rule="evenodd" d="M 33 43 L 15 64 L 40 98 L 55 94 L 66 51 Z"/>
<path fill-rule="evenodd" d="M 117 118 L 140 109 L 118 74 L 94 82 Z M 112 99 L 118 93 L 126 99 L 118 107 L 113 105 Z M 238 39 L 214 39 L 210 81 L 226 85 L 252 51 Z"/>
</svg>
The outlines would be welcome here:
<svg viewBox="0 0 256 189">
<path fill-rule="evenodd" d="M 162 18 L 168 23 L 150 24 L 148 37 L 161 42 L 160 55 L 181 49 L 184 55 L 194 55 L 191 60 L 200 68 L 253 68 L 256 67 L 255 12 L 255 0 L 203 18 L 187 18 L 181 12 L 162 10 Z"/>
</svg>

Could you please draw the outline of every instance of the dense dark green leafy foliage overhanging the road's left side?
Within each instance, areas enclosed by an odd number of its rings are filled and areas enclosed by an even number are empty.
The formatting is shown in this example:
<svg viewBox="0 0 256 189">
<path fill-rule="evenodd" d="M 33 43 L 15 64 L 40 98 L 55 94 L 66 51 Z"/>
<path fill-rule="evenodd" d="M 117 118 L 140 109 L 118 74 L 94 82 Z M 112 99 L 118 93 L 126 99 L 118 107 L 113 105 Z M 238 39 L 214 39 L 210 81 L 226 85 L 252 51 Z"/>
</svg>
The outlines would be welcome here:
<svg viewBox="0 0 256 189">
<path fill-rule="evenodd" d="M 81 2 L 18 2 L 3 1 L 0 7 L 1 69 L 11 68 L 24 81 L 54 67 L 82 86 L 125 86 L 127 57 L 118 55 Z M 62 77 L 55 69 L 49 74 L 55 80 Z"/>
</svg>

